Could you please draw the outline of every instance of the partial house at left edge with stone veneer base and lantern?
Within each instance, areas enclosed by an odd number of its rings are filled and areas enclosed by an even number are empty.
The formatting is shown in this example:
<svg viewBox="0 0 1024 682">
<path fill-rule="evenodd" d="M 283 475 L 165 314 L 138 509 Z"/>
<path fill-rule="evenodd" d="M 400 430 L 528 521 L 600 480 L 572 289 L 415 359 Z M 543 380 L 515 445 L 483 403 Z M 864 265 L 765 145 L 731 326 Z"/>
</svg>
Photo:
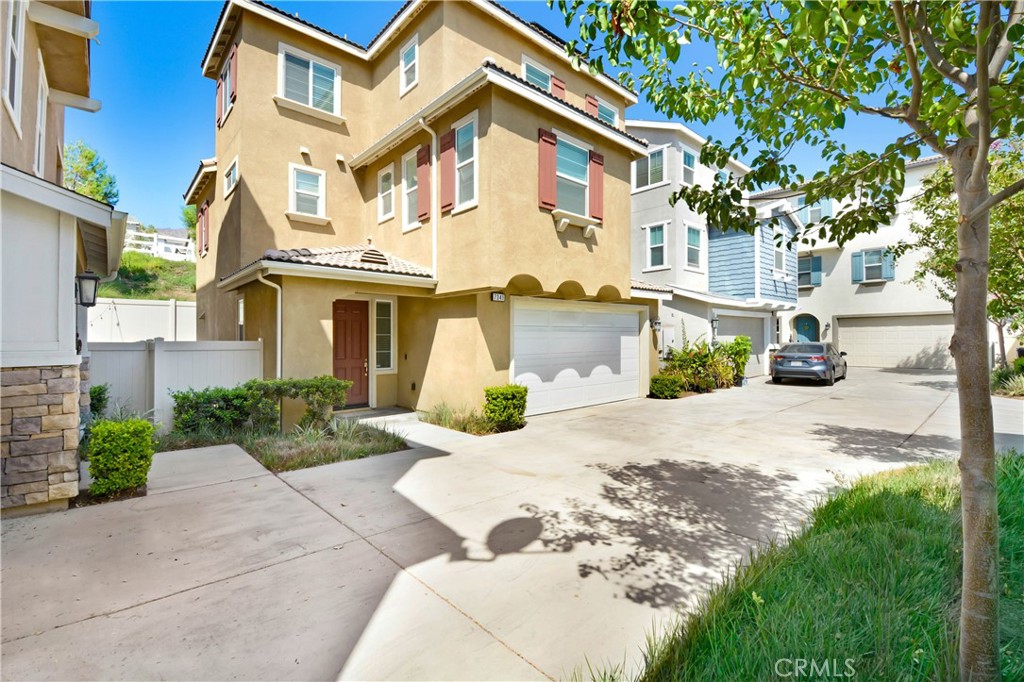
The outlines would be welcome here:
<svg viewBox="0 0 1024 682">
<path fill-rule="evenodd" d="M 62 186 L 65 108 L 94 112 L 84 1 L 0 4 L 0 366 L 4 514 L 78 495 L 86 324 L 76 274 L 117 272 L 126 215 Z M 81 332 L 81 334 L 79 334 Z"/>
</svg>

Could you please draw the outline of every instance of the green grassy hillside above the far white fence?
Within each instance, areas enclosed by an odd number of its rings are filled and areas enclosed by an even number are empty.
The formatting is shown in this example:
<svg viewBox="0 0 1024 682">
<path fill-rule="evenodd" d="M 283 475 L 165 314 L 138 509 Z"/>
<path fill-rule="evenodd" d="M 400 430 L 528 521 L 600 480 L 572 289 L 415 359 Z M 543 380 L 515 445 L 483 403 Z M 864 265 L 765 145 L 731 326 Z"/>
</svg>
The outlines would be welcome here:
<svg viewBox="0 0 1024 682">
<path fill-rule="evenodd" d="M 118 279 L 99 285 L 105 298 L 196 300 L 196 263 L 173 261 L 138 251 L 125 251 Z"/>
</svg>

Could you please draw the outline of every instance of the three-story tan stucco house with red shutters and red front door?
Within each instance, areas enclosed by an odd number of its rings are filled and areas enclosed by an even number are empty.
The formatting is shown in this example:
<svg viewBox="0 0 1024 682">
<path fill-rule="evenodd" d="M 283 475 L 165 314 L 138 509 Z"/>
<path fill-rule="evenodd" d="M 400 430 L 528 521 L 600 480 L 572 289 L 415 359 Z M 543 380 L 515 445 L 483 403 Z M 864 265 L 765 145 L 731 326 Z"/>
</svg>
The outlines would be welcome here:
<svg viewBox="0 0 1024 682">
<path fill-rule="evenodd" d="M 646 394 L 632 92 L 486 0 L 414 0 L 367 47 L 229 0 L 202 68 L 200 339 L 262 339 L 266 376 L 351 380 L 349 404 Z"/>
</svg>

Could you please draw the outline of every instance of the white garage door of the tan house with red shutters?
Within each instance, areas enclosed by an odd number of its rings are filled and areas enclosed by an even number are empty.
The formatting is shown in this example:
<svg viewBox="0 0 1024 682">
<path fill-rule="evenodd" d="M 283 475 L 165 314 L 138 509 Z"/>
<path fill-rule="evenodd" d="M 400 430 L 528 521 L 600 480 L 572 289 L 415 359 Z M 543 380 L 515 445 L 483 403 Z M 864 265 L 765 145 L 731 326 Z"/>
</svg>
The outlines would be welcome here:
<svg viewBox="0 0 1024 682">
<path fill-rule="evenodd" d="M 599 303 L 513 299 L 513 383 L 538 415 L 640 396 L 640 315 Z"/>
</svg>

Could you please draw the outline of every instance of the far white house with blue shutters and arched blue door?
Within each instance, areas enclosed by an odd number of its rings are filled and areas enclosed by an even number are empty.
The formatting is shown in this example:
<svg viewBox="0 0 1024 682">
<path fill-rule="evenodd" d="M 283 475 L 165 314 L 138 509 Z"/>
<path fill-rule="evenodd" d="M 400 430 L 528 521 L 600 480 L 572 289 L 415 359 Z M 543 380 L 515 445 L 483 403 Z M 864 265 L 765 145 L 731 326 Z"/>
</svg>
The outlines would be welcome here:
<svg viewBox="0 0 1024 682">
<path fill-rule="evenodd" d="M 941 157 L 907 164 L 906 186 L 895 220 L 843 247 L 834 242 L 801 245 L 797 309 L 785 313 L 781 341 L 831 341 L 851 367 L 949 370 L 952 308 L 931 285 L 910 282 L 921 253 L 898 260 L 887 249 L 910 241 L 912 202 Z M 839 206 L 805 206 L 799 193 L 773 189 L 751 197 L 755 206 L 785 199 L 801 221 L 816 221 Z"/>
</svg>

